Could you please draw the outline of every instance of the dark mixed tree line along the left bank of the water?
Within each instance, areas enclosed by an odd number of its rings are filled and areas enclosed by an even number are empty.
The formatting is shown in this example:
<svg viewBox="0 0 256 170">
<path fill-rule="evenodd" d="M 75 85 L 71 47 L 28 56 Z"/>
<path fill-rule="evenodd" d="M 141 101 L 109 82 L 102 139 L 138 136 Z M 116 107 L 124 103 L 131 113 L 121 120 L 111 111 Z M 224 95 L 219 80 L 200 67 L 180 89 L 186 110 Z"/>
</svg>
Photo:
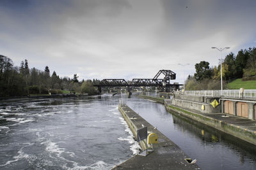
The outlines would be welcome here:
<svg viewBox="0 0 256 170">
<path fill-rule="evenodd" d="M 97 94 L 93 83 L 99 80 L 79 81 L 77 74 L 74 78 L 60 78 L 55 71 L 45 66 L 44 71 L 35 67 L 29 69 L 28 60 L 14 66 L 12 59 L 0 55 L 0 97 L 30 96 L 31 94 L 61 94 L 63 90 Z"/>
</svg>

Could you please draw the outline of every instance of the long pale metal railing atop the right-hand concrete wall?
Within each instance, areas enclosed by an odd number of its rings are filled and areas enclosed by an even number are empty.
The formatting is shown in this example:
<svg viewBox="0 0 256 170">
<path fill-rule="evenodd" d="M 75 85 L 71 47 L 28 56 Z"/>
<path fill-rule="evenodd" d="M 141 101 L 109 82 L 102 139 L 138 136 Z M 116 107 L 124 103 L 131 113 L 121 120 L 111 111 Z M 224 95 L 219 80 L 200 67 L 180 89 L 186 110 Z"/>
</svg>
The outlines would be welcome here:
<svg viewBox="0 0 256 170">
<path fill-rule="evenodd" d="M 184 94 L 187 96 L 209 96 L 220 97 L 221 90 L 186 90 L 185 92 L 175 92 L 178 94 Z M 222 90 L 221 97 L 234 97 L 244 99 L 256 99 L 256 90 Z"/>
</svg>

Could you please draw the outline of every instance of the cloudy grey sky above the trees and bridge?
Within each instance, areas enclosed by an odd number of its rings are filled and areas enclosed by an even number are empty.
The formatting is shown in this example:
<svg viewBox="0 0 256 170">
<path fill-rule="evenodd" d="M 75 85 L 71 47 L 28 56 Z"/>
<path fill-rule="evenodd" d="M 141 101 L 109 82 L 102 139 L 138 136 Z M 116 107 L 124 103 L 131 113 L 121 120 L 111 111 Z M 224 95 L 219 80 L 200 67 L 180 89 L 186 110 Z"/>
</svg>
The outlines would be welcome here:
<svg viewBox="0 0 256 170">
<path fill-rule="evenodd" d="M 255 0 L 0 0 L 0 55 L 15 66 L 79 80 L 153 78 L 160 69 L 183 82 L 256 46 Z M 189 64 L 186 67 L 179 64 Z"/>
</svg>

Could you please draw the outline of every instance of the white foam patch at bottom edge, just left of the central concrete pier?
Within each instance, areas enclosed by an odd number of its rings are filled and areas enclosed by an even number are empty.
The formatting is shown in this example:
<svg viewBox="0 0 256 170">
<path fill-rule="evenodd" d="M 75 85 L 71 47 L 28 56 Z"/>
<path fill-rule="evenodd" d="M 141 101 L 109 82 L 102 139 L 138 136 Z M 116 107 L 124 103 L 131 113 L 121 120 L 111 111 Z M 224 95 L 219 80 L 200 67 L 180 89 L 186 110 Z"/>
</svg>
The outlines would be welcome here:
<svg viewBox="0 0 256 170">
<path fill-rule="evenodd" d="M 91 164 L 89 166 L 78 166 L 77 162 L 74 163 L 74 167 L 68 168 L 68 169 L 99 169 L 99 170 L 105 170 L 105 169 L 111 169 L 114 165 L 108 164 L 102 160 L 95 162 L 94 164 Z"/>
</svg>

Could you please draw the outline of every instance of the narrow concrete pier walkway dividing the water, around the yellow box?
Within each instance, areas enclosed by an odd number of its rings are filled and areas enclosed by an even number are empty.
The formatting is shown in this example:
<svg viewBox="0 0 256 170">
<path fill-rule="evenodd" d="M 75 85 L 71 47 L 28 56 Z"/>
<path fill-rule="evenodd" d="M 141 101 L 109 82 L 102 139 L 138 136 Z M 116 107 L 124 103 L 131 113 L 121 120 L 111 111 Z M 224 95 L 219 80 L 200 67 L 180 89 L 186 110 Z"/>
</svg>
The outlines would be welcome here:
<svg viewBox="0 0 256 170">
<path fill-rule="evenodd" d="M 158 144 L 154 144 L 154 152 L 150 152 L 147 156 L 135 155 L 113 169 L 200 169 L 196 164 L 189 164 L 185 160 L 189 157 L 180 150 L 179 146 L 175 145 L 157 129 L 154 130 L 151 124 L 127 105 L 120 104 L 118 108 L 134 136 L 136 136 L 137 129 L 140 129 L 143 124 L 147 126 L 148 131 L 157 134 Z M 140 144 L 141 148 L 145 147 L 143 143 Z"/>
</svg>

